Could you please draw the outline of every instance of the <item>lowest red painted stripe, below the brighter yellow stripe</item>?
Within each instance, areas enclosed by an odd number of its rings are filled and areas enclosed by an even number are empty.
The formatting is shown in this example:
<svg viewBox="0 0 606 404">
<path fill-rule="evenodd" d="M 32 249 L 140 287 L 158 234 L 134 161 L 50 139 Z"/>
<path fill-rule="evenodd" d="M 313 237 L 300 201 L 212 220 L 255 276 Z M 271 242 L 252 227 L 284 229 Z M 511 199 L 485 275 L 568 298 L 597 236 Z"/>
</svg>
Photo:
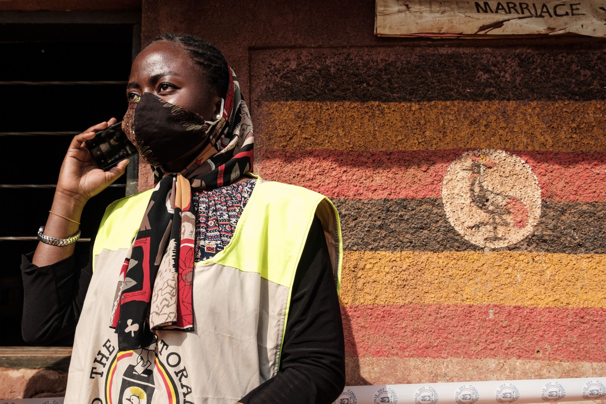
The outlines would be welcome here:
<svg viewBox="0 0 606 404">
<path fill-rule="evenodd" d="M 341 313 L 347 356 L 606 362 L 604 308 L 376 305 Z"/>
</svg>

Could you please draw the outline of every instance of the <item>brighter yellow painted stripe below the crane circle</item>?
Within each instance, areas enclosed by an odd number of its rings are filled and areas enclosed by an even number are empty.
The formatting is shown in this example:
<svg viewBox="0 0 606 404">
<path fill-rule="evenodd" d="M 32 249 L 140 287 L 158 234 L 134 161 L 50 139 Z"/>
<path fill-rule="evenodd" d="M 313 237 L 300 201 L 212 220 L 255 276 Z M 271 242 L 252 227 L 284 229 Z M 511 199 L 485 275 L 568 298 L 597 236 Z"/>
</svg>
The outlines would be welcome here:
<svg viewBox="0 0 606 404">
<path fill-rule="evenodd" d="M 606 254 L 346 251 L 342 305 L 606 307 Z"/>
</svg>

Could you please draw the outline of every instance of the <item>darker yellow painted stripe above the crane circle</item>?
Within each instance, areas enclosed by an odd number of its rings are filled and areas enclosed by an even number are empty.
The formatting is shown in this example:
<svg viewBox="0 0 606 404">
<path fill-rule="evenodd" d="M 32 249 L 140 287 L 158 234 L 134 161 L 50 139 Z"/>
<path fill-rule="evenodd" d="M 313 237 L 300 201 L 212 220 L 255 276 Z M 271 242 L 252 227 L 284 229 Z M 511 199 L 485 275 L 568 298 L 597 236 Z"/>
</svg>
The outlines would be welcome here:
<svg viewBox="0 0 606 404">
<path fill-rule="evenodd" d="M 255 103 L 259 147 L 606 150 L 604 101 Z"/>
</svg>

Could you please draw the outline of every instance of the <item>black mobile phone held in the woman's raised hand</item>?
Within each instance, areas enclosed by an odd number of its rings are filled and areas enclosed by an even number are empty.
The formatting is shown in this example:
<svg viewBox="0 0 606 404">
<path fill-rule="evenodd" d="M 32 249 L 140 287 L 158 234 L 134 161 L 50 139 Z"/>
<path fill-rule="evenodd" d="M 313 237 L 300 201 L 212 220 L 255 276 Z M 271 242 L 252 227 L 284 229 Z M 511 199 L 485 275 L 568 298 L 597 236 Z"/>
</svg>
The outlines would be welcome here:
<svg viewBox="0 0 606 404">
<path fill-rule="evenodd" d="M 107 171 L 118 162 L 138 153 L 122 131 L 122 121 L 98 132 L 95 137 L 85 141 L 86 147 L 97 167 Z"/>
</svg>

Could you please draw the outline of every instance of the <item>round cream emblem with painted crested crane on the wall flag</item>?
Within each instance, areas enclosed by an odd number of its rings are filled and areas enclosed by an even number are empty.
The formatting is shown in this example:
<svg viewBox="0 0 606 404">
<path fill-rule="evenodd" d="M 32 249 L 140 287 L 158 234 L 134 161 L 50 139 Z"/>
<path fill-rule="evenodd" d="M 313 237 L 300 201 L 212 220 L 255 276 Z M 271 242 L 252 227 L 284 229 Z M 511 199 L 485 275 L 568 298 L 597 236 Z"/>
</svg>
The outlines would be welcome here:
<svg viewBox="0 0 606 404">
<path fill-rule="evenodd" d="M 532 233 L 541 188 L 530 166 L 503 150 L 473 150 L 448 167 L 442 202 L 450 224 L 481 247 L 505 247 Z"/>
</svg>

